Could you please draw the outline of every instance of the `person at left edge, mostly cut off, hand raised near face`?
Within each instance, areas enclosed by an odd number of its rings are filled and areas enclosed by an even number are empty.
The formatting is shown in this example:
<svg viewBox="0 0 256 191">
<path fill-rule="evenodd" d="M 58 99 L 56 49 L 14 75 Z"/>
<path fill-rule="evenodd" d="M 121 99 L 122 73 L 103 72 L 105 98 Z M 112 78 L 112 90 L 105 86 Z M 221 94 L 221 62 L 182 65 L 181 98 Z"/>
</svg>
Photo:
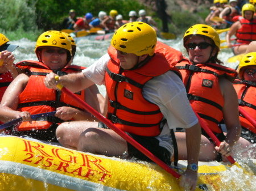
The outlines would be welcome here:
<svg viewBox="0 0 256 191">
<path fill-rule="evenodd" d="M 0 103 L 6 88 L 18 76 L 18 70 L 14 65 L 15 58 L 11 53 L 18 45 L 9 44 L 8 42 L 9 39 L 0 33 Z M 0 121 L 0 124 L 3 124 L 3 122 Z"/>
</svg>

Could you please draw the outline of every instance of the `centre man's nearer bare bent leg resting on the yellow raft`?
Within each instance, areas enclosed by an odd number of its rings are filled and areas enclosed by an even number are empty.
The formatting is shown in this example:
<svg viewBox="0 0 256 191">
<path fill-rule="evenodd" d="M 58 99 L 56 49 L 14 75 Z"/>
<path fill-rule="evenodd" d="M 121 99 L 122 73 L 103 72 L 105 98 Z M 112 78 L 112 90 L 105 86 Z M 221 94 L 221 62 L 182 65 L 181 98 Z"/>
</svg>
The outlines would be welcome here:
<svg viewBox="0 0 256 191">
<path fill-rule="evenodd" d="M 88 128 L 80 135 L 78 150 L 126 158 L 127 143 L 111 129 Z"/>
</svg>

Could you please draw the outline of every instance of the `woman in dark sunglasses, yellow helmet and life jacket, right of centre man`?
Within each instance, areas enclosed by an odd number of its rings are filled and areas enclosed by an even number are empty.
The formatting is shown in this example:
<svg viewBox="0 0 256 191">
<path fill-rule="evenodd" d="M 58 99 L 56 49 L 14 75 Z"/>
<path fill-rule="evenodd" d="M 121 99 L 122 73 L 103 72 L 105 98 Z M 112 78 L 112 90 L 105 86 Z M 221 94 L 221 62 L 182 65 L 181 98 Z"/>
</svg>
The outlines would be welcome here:
<svg viewBox="0 0 256 191">
<path fill-rule="evenodd" d="M 222 156 L 232 154 L 235 143 L 245 143 L 242 147 L 247 146 L 247 141 L 240 138 L 238 99 L 232 85 L 237 72 L 222 66 L 222 62 L 218 60 L 220 37 L 214 28 L 205 24 L 196 24 L 188 28 L 183 37 L 183 44 L 191 63 L 189 65 L 177 63 L 176 67 L 183 76 L 189 102 L 221 142 L 219 147 L 215 146 L 202 129 L 199 160 L 221 161 Z M 226 134 L 218 126 L 222 118 L 228 130 Z M 176 132 L 175 135 L 179 159 L 187 160 L 184 141 L 186 135 L 183 132 Z"/>
</svg>

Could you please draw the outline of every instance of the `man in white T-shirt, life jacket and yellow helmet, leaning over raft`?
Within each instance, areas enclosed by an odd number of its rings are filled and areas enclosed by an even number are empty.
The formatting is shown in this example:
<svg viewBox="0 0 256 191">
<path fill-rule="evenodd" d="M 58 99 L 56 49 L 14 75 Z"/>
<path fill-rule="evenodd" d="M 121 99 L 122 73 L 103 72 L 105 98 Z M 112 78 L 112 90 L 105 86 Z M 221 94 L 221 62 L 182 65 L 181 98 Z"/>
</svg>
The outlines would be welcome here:
<svg viewBox="0 0 256 191">
<path fill-rule="evenodd" d="M 120 27 L 108 54 L 82 73 L 60 77 L 57 82 L 56 74 L 51 73 L 44 83 L 48 88 L 56 88 L 60 83 L 73 92 L 94 83 L 105 84 L 109 97 L 107 118 L 168 165 L 175 141 L 170 129 L 185 128 L 188 167 L 180 185 L 195 190 L 201 128 L 174 67 L 178 62 L 189 63 L 181 52 L 158 42 L 154 28 L 133 22 Z M 150 160 L 102 123 L 65 122 L 57 128 L 56 135 L 61 145 L 68 148 Z"/>
</svg>

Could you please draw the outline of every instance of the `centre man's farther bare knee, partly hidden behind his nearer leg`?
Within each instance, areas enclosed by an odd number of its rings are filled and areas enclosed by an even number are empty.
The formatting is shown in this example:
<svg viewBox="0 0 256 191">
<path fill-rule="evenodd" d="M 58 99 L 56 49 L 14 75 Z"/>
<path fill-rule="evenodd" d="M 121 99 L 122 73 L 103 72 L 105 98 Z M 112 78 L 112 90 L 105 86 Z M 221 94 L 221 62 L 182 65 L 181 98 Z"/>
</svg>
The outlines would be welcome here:
<svg viewBox="0 0 256 191">
<path fill-rule="evenodd" d="M 78 140 L 82 131 L 87 128 L 97 128 L 97 126 L 98 122 L 64 122 L 56 129 L 56 137 L 62 146 L 77 150 Z"/>
</svg>

